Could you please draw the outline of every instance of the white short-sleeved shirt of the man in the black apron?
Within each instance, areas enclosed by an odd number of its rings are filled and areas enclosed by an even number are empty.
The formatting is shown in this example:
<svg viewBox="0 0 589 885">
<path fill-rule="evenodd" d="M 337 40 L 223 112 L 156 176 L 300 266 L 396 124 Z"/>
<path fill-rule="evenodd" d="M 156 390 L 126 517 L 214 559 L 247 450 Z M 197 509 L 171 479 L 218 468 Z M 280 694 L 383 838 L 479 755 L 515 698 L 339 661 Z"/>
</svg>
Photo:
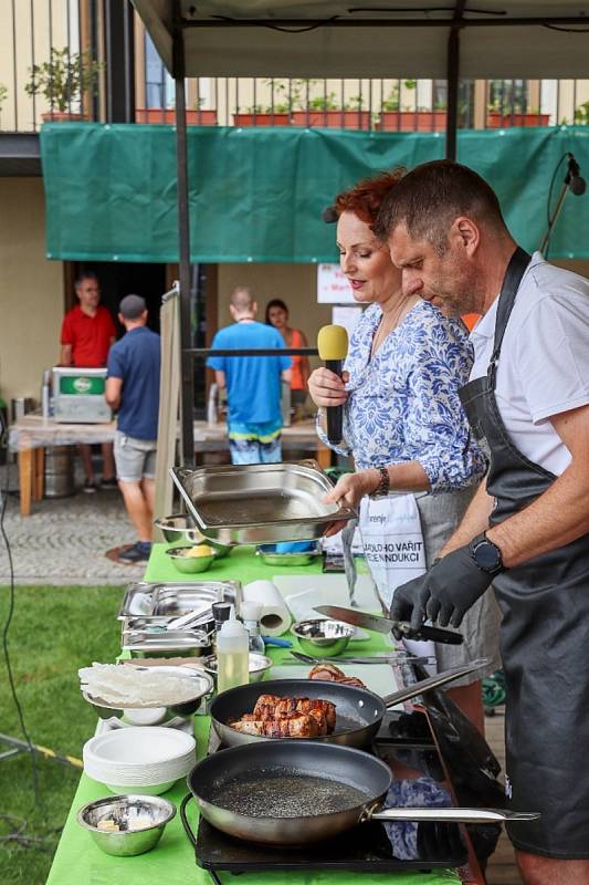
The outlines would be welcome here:
<svg viewBox="0 0 589 885">
<path fill-rule="evenodd" d="M 498 299 L 471 333 L 471 381 L 486 375 Z M 570 452 L 548 418 L 589 404 L 589 280 L 535 252 L 507 323 L 495 397 L 519 451 L 555 476 Z"/>
</svg>

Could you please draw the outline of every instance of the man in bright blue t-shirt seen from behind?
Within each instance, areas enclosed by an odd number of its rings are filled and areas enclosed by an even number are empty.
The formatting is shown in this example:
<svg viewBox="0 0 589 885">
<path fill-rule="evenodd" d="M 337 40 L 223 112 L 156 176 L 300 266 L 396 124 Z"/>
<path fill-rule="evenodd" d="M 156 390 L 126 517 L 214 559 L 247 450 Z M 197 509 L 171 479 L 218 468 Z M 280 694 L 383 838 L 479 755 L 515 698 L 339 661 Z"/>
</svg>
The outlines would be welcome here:
<svg viewBox="0 0 589 885">
<path fill-rule="evenodd" d="M 255 320 L 257 304 L 249 289 L 235 289 L 229 310 L 235 321 L 215 334 L 213 350 L 284 348 L 281 333 Z M 291 357 L 210 356 L 219 388 L 227 389 L 229 449 L 233 464 L 282 460 L 281 382 L 291 379 Z"/>
</svg>

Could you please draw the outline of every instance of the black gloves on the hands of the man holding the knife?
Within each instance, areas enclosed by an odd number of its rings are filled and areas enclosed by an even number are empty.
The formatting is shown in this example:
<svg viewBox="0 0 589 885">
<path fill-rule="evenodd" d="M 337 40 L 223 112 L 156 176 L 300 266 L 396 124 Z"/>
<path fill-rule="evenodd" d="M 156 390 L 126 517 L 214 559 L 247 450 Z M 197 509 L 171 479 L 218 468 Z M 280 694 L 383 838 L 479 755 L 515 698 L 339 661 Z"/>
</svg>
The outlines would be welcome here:
<svg viewBox="0 0 589 885">
<path fill-rule="evenodd" d="M 390 617 L 410 621 L 414 631 L 428 618 L 438 621 L 441 627 L 460 627 L 465 613 L 492 581 L 477 566 L 469 546 L 461 546 L 434 562 L 425 574 L 397 587 Z"/>
</svg>

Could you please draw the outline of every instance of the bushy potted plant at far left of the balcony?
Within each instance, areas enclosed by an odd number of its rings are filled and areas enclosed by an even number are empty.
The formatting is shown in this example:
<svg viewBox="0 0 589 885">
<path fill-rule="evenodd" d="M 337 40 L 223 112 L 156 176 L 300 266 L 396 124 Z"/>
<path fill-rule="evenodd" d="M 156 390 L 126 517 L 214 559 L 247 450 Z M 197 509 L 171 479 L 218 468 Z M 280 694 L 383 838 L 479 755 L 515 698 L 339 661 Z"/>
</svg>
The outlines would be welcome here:
<svg viewBox="0 0 589 885">
<path fill-rule="evenodd" d="M 98 77 L 104 64 L 95 61 L 87 50 L 71 53 L 70 48 L 52 46 L 49 62 L 33 64 L 24 86 L 28 95 L 42 95 L 50 111 L 42 114 L 44 122 L 88 119 L 83 108 L 83 95 L 96 95 Z M 75 108 L 75 110 L 74 110 Z"/>
</svg>

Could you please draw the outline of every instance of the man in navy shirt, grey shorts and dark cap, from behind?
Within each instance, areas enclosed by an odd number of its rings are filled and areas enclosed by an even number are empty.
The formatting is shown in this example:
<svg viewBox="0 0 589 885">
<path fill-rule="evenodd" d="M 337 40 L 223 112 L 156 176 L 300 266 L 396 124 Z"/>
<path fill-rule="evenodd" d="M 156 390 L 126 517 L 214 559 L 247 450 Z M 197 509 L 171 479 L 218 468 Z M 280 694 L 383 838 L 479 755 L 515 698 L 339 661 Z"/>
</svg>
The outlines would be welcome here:
<svg viewBox="0 0 589 885">
<path fill-rule="evenodd" d="M 137 535 L 119 553 L 127 563 L 146 562 L 151 549 L 159 412 L 159 335 L 147 329 L 140 295 L 126 295 L 118 319 L 126 334 L 108 353 L 106 402 L 118 410 L 115 464 L 118 487 Z"/>
</svg>

